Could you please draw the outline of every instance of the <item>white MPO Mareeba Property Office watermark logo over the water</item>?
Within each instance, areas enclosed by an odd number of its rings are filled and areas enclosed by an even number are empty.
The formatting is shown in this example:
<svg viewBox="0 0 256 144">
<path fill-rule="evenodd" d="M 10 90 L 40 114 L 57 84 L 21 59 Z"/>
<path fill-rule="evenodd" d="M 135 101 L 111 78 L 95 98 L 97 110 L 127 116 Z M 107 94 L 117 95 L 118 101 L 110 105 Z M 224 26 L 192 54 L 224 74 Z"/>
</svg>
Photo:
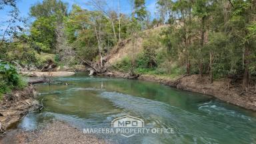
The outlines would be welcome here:
<svg viewBox="0 0 256 144">
<path fill-rule="evenodd" d="M 173 134 L 173 128 L 146 128 L 143 119 L 125 115 L 117 117 L 111 121 L 111 128 L 87 128 L 83 129 L 83 133 L 97 134 L 120 134 L 123 137 L 132 137 L 136 134 Z"/>
</svg>

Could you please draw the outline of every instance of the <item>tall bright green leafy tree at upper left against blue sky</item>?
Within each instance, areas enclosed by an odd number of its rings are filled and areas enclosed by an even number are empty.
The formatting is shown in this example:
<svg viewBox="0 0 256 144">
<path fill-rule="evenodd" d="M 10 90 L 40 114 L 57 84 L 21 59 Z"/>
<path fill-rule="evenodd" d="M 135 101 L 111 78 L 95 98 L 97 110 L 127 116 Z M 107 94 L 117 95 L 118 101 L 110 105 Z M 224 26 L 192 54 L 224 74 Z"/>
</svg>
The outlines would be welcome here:
<svg viewBox="0 0 256 144">
<path fill-rule="evenodd" d="M 58 0 L 44 0 L 31 7 L 30 15 L 36 18 L 31 27 L 31 36 L 37 47 L 45 52 L 61 51 L 67 4 Z"/>
</svg>

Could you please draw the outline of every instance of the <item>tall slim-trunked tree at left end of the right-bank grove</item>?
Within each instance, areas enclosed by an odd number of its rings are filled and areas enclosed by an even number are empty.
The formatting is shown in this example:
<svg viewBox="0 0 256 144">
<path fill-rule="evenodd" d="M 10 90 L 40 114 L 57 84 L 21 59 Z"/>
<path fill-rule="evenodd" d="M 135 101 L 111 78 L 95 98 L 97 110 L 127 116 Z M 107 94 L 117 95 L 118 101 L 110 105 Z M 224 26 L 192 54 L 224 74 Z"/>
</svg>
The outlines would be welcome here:
<svg viewBox="0 0 256 144">
<path fill-rule="evenodd" d="M 168 3 L 168 5 L 165 5 L 165 3 Z M 165 35 L 168 36 L 164 38 L 163 42 L 173 58 L 179 56 L 179 53 L 183 54 L 187 74 L 190 74 L 192 38 L 197 35 L 195 19 L 192 15 L 193 1 L 159 0 L 157 5 L 159 5 L 159 11 L 169 13 L 169 22 L 171 22 L 169 29 L 165 31 Z"/>
</svg>

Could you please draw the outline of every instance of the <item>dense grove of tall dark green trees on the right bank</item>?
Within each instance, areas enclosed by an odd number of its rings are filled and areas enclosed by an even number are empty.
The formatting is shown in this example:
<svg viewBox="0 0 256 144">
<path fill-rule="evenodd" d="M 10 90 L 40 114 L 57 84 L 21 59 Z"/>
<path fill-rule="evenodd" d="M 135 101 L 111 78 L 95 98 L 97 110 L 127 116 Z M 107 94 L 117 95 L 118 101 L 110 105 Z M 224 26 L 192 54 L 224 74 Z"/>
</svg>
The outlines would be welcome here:
<svg viewBox="0 0 256 144">
<path fill-rule="evenodd" d="M 158 5 L 170 24 L 163 44 L 187 74 L 207 75 L 211 82 L 240 77 L 248 86 L 255 76 L 255 1 L 159 0 Z"/>
</svg>

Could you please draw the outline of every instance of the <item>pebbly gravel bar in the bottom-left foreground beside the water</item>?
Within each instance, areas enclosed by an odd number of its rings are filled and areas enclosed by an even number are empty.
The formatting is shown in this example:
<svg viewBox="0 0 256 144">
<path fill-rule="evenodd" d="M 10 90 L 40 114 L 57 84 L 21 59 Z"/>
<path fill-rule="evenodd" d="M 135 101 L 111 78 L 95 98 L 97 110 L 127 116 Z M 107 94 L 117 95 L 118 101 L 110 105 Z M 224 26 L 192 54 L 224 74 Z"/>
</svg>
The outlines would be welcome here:
<svg viewBox="0 0 256 144">
<path fill-rule="evenodd" d="M 103 139 L 94 137 L 93 135 L 84 134 L 71 125 L 62 121 L 53 121 L 48 123 L 43 129 L 35 131 L 23 131 L 22 129 L 15 129 L 10 131 L 6 137 L 0 140 L 0 144 L 95 144 L 95 143 L 109 143 Z"/>
</svg>

